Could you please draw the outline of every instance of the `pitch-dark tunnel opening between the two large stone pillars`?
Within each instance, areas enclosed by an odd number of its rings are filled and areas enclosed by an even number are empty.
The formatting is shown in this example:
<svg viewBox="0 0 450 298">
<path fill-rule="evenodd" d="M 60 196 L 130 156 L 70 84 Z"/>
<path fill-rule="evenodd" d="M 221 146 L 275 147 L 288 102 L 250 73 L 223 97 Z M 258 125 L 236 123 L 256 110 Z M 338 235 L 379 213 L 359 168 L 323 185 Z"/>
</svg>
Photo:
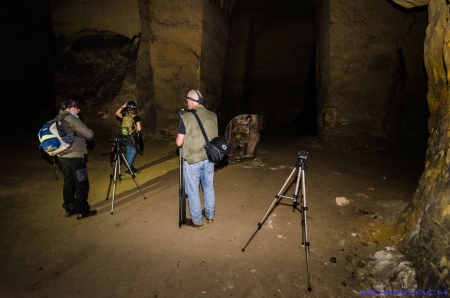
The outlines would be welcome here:
<svg viewBox="0 0 450 298">
<path fill-rule="evenodd" d="M 236 3 L 218 108 L 219 131 L 239 114 L 263 131 L 317 135 L 315 1 Z"/>
</svg>

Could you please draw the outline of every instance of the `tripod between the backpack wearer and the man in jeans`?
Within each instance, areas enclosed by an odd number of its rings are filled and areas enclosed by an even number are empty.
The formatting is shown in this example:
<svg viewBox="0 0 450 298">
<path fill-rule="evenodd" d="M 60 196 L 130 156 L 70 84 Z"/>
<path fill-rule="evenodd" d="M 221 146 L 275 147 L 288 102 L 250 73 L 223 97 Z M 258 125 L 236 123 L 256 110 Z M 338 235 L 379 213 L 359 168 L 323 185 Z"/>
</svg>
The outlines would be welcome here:
<svg viewBox="0 0 450 298">
<path fill-rule="evenodd" d="M 109 175 L 109 187 L 108 187 L 108 193 L 106 194 L 106 200 L 108 200 L 109 197 L 109 191 L 111 190 L 111 185 L 113 184 L 113 193 L 112 193 L 112 200 L 111 200 L 111 214 L 114 213 L 114 197 L 116 193 L 116 185 L 117 180 L 122 180 L 122 173 L 120 172 L 120 158 L 122 158 L 123 162 L 125 163 L 125 166 L 127 167 L 127 170 L 130 172 L 131 177 L 133 177 L 134 182 L 136 183 L 136 186 L 138 187 L 139 191 L 141 192 L 144 199 L 147 199 L 142 192 L 141 187 L 139 186 L 139 183 L 136 180 L 136 175 L 134 174 L 133 170 L 131 169 L 130 165 L 127 162 L 127 159 L 125 158 L 125 155 L 123 155 L 124 149 L 120 146 L 120 144 L 123 141 L 123 137 L 117 136 L 113 141 L 113 147 L 111 148 L 111 162 L 113 163 L 113 168 L 111 171 L 111 174 Z"/>
</svg>

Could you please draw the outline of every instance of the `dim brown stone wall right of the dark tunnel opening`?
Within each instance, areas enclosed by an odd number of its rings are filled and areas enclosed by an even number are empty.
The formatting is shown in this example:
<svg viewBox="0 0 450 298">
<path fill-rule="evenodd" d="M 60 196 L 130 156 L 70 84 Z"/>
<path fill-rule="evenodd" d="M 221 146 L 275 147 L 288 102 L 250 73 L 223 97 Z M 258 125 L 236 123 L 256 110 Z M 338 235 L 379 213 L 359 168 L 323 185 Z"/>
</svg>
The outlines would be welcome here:
<svg viewBox="0 0 450 298">
<path fill-rule="evenodd" d="M 425 9 L 322 1 L 318 126 L 328 147 L 425 150 Z"/>
</svg>

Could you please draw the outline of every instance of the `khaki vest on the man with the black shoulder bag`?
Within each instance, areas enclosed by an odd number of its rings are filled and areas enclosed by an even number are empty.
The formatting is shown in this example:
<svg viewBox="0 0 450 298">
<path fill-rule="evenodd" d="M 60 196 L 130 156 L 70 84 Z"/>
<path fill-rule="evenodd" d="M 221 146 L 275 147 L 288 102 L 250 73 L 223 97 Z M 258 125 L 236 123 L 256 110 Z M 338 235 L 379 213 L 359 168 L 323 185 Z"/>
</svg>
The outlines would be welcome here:
<svg viewBox="0 0 450 298">
<path fill-rule="evenodd" d="M 216 114 L 205 109 L 203 105 L 197 105 L 195 110 L 203 124 L 208 140 L 210 141 L 217 137 L 219 129 Z M 204 148 L 206 142 L 197 119 L 192 113 L 184 113 L 181 118 L 186 128 L 183 142 L 183 158 L 190 164 L 207 159 L 208 156 Z"/>
</svg>

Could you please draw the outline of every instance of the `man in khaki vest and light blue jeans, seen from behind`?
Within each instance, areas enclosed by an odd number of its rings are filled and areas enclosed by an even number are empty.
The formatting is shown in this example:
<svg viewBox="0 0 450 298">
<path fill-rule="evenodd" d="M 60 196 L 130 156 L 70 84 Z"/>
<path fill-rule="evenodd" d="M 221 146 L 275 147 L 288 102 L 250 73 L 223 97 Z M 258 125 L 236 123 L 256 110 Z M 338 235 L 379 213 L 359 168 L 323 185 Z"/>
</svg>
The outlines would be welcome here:
<svg viewBox="0 0 450 298">
<path fill-rule="evenodd" d="M 217 116 L 203 106 L 203 98 L 198 90 L 191 90 L 186 96 L 188 110 L 196 110 L 208 139 L 218 136 Z M 187 225 L 197 230 L 203 229 L 202 205 L 200 202 L 200 183 L 203 188 L 205 217 L 213 223 L 216 199 L 214 196 L 214 163 L 208 160 L 205 151 L 205 138 L 195 116 L 184 113 L 178 123 L 176 144 L 183 148 L 183 177 L 185 192 L 189 201 L 192 220 Z"/>
</svg>

